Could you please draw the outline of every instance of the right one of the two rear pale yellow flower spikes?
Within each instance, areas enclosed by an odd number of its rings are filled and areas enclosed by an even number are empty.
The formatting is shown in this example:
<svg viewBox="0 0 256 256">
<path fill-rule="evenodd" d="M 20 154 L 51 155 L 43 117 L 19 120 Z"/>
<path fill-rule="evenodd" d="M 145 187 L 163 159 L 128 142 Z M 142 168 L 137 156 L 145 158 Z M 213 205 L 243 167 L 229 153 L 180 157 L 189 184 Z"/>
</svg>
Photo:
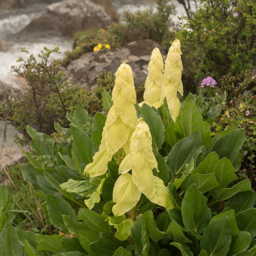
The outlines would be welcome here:
<svg viewBox="0 0 256 256">
<path fill-rule="evenodd" d="M 181 81 L 183 66 L 181 54 L 180 41 L 176 39 L 172 43 L 165 60 L 165 73 L 160 96 L 161 104 L 163 104 L 166 97 L 168 108 L 174 122 L 180 112 L 180 100 L 177 97 L 177 91 L 183 96 L 183 84 Z"/>
</svg>

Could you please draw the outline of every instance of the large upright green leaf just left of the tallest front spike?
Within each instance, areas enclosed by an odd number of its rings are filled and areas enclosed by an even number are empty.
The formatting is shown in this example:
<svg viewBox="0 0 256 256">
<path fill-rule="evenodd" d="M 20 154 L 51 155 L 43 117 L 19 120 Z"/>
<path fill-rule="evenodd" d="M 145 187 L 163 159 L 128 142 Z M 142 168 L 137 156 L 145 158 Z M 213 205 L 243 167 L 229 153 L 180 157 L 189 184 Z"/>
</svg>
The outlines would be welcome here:
<svg viewBox="0 0 256 256">
<path fill-rule="evenodd" d="M 94 145 L 91 138 L 81 129 L 70 125 L 70 130 L 73 135 L 72 149 L 75 154 L 84 163 L 84 167 L 92 162 L 92 157 L 95 154 Z"/>
</svg>

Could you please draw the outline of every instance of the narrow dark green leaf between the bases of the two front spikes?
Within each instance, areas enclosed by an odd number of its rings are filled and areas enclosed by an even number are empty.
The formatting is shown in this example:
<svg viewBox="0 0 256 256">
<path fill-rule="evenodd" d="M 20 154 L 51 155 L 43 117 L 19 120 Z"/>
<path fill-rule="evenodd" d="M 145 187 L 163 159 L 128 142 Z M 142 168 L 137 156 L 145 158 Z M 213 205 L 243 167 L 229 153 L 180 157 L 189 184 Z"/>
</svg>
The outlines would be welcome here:
<svg viewBox="0 0 256 256">
<path fill-rule="evenodd" d="M 113 199 L 114 185 L 119 176 L 119 173 L 118 173 L 119 165 L 109 161 L 107 167 L 108 167 L 109 175 L 107 176 L 102 187 L 103 200 L 105 202 L 111 201 Z"/>
</svg>

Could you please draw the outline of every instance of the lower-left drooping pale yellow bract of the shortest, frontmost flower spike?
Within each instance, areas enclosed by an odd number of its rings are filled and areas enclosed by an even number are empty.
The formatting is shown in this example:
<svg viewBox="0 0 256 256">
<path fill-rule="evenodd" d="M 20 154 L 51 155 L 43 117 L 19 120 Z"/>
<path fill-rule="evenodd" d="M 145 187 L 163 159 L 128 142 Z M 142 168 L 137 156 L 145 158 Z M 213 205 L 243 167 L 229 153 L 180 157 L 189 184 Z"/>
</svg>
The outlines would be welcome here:
<svg viewBox="0 0 256 256">
<path fill-rule="evenodd" d="M 113 201 L 116 202 L 112 208 L 113 214 L 116 216 L 125 214 L 138 203 L 140 196 L 141 192 L 132 181 L 132 176 L 129 173 L 121 174 L 113 190 Z"/>
</svg>

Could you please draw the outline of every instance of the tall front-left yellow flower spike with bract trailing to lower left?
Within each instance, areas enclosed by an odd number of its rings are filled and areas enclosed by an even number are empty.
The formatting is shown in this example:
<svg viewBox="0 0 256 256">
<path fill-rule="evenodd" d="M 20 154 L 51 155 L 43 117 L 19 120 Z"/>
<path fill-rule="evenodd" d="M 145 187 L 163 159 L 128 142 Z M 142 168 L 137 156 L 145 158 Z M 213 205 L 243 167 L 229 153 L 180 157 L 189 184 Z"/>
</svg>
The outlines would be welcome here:
<svg viewBox="0 0 256 256">
<path fill-rule="evenodd" d="M 136 92 L 132 70 L 125 62 L 116 71 L 115 86 L 112 91 L 113 106 L 108 112 L 105 127 L 102 132 L 99 151 L 93 157 L 93 162 L 86 165 L 84 172 L 91 177 L 105 174 L 107 163 L 121 148 L 129 151 L 129 137 L 135 130 L 137 114 L 134 104 Z"/>
</svg>

